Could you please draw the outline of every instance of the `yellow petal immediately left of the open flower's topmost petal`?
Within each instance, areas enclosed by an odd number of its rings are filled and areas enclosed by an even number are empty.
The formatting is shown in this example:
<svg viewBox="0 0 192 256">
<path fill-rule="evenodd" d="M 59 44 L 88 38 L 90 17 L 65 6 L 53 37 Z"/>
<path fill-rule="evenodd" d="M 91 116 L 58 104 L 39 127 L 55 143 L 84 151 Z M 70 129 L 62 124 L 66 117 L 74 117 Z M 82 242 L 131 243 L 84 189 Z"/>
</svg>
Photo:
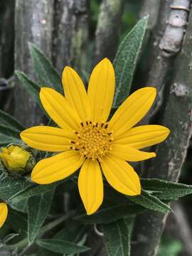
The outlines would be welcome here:
<svg viewBox="0 0 192 256">
<path fill-rule="evenodd" d="M 90 120 L 90 104 L 87 92 L 78 73 L 76 73 L 73 68 L 65 67 L 62 82 L 65 99 L 76 110 L 83 122 Z"/>
</svg>

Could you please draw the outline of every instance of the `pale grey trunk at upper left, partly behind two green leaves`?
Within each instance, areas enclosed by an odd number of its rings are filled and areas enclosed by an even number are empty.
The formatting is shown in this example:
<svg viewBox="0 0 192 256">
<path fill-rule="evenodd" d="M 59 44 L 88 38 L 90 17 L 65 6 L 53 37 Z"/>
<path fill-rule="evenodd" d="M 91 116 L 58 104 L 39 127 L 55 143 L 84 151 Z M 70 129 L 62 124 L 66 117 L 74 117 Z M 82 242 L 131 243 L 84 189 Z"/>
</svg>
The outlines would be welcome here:
<svg viewBox="0 0 192 256">
<path fill-rule="evenodd" d="M 16 0 L 15 69 L 34 78 L 28 41 L 50 57 L 52 46 L 53 0 Z M 26 126 L 39 124 L 42 115 L 20 82 L 15 87 L 15 115 Z"/>
</svg>

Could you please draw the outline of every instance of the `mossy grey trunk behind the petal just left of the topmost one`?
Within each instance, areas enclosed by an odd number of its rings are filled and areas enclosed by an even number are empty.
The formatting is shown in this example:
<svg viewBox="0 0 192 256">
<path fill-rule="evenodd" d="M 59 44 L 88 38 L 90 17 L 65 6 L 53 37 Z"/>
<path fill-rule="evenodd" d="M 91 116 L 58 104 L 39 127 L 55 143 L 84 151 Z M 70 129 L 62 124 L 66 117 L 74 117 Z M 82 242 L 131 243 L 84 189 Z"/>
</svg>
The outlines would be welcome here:
<svg viewBox="0 0 192 256">
<path fill-rule="evenodd" d="M 61 72 L 65 65 L 85 68 L 88 41 L 88 0 L 55 1 L 53 61 Z"/>
</svg>

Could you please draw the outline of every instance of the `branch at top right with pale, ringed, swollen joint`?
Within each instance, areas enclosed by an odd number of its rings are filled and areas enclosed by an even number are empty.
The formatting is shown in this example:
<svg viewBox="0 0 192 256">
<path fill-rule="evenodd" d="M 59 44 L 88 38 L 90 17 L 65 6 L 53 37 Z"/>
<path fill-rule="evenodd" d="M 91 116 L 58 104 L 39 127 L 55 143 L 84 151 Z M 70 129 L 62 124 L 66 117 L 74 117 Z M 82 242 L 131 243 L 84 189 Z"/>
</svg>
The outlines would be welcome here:
<svg viewBox="0 0 192 256">
<path fill-rule="evenodd" d="M 181 50 L 188 11 L 191 0 L 163 1 L 159 17 L 159 24 L 155 28 L 153 50 L 151 54 L 149 76 L 146 85 L 153 85 L 158 92 L 156 110 L 151 108 L 149 114 L 144 118 L 142 124 L 148 124 L 151 115 L 161 107 L 161 99 L 164 94 L 164 83 L 172 68 L 174 56 Z M 171 12 L 169 13 L 169 10 Z M 169 14 L 169 18 L 167 16 Z M 165 28 L 166 24 L 166 28 Z"/>
</svg>

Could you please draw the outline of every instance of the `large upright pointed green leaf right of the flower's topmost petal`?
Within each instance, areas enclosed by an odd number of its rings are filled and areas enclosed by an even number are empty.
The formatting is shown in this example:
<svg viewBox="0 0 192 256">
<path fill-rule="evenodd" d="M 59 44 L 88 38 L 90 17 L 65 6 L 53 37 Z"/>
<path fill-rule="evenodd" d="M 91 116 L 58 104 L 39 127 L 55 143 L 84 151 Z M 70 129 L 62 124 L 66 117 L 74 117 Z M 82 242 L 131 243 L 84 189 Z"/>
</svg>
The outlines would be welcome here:
<svg viewBox="0 0 192 256">
<path fill-rule="evenodd" d="M 113 107 L 119 107 L 129 95 L 147 21 L 148 17 L 142 18 L 132 28 L 132 31 L 128 33 L 117 49 L 117 54 L 114 58 L 116 92 L 114 94 Z"/>
</svg>

